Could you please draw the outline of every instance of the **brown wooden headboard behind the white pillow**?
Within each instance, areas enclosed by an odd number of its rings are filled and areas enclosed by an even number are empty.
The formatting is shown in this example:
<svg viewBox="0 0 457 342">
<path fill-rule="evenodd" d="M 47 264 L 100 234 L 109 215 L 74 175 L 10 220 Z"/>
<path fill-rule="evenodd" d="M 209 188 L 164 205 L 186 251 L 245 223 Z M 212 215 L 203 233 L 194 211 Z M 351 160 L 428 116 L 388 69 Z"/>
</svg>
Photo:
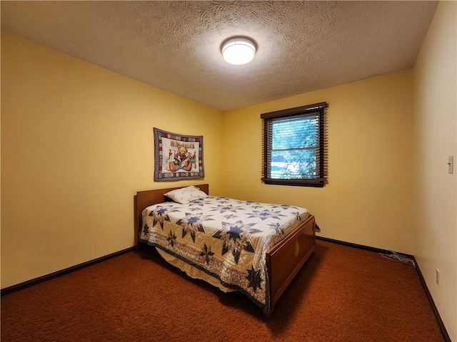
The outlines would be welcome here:
<svg viewBox="0 0 457 342">
<path fill-rule="evenodd" d="M 188 185 L 186 185 L 188 186 Z M 184 186 L 184 187 L 186 187 Z M 202 185 L 195 185 L 201 191 L 206 192 L 209 195 L 209 185 L 202 184 Z M 155 189 L 155 190 L 145 190 L 136 192 L 134 196 L 134 227 L 135 227 L 135 245 L 138 246 L 138 232 L 139 232 L 139 224 L 140 224 L 140 215 L 143 212 L 143 209 L 149 207 L 152 204 L 165 202 L 164 195 L 175 189 L 181 189 L 182 187 L 169 187 L 166 189 Z"/>
</svg>

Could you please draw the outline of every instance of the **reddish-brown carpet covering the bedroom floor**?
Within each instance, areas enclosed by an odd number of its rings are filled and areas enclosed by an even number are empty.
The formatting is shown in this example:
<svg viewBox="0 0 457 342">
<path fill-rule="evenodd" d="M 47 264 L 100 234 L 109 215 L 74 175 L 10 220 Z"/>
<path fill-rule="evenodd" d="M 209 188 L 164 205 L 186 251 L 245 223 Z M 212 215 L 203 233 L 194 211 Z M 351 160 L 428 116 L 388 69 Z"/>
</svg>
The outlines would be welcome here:
<svg viewBox="0 0 457 342">
<path fill-rule="evenodd" d="M 1 341 L 444 341 L 411 264 L 318 241 L 270 319 L 129 252 L 1 298 Z"/>
</svg>

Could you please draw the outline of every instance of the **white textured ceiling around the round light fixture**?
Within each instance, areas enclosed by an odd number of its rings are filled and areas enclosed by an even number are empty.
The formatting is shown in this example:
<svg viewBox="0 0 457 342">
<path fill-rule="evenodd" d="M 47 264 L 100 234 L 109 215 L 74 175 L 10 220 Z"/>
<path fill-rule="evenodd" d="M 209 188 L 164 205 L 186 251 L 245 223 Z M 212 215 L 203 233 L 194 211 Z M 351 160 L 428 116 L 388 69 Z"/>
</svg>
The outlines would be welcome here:
<svg viewBox="0 0 457 342">
<path fill-rule="evenodd" d="M 1 1 L 1 28 L 219 110 L 412 68 L 436 1 Z M 221 43 L 248 36 L 251 63 Z"/>
</svg>

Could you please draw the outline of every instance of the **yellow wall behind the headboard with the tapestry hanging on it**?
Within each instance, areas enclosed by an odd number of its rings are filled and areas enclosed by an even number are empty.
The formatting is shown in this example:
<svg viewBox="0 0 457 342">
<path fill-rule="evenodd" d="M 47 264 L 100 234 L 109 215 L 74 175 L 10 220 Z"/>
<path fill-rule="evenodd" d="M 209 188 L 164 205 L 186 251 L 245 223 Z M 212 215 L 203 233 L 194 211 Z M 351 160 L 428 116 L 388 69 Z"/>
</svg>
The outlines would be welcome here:
<svg viewBox="0 0 457 342">
<path fill-rule="evenodd" d="M 134 245 L 133 197 L 154 182 L 153 127 L 204 135 L 221 171 L 218 110 L 1 33 L 1 288 Z"/>
</svg>

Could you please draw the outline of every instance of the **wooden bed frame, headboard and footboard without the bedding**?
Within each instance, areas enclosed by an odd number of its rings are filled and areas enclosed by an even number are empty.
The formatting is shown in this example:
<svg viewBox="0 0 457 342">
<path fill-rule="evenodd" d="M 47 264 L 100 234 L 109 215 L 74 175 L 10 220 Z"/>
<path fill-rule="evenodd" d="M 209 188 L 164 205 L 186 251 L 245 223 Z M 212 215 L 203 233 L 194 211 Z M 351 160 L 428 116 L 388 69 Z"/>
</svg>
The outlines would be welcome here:
<svg viewBox="0 0 457 342">
<path fill-rule="evenodd" d="M 209 194 L 209 185 L 196 185 L 201 191 Z M 146 190 L 136 192 L 134 197 L 135 212 L 135 241 L 136 248 L 139 249 L 139 224 L 140 215 L 143 209 L 149 205 L 164 202 L 164 195 L 171 190 L 181 187 L 171 187 L 167 189 Z M 268 278 L 270 280 L 270 311 L 266 316 L 273 314 L 273 309 L 287 286 L 301 266 L 311 256 L 316 247 L 315 221 L 311 216 L 300 224 L 288 236 L 278 242 L 278 244 L 268 249 L 266 252 L 266 264 L 268 267 Z"/>
</svg>

